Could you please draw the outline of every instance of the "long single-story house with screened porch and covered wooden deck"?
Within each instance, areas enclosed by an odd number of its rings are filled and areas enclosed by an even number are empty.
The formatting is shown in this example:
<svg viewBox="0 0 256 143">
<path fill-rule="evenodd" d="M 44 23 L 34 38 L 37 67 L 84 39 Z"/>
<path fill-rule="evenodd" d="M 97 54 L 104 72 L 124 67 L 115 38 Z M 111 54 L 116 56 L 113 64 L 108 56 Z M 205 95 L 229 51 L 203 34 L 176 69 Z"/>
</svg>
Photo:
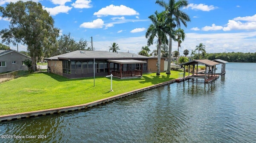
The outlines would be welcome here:
<svg viewBox="0 0 256 143">
<path fill-rule="evenodd" d="M 112 73 L 120 78 L 141 77 L 142 73 L 149 71 L 148 67 L 156 66 L 155 60 L 150 60 L 150 57 L 134 53 L 113 53 L 109 51 L 77 50 L 49 57 L 45 60 L 48 61 L 48 72 L 67 78 L 92 77 L 94 76 L 94 70 L 95 76 L 106 76 Z M 94 60 L 95 69 L 93 69 Z"/>
</svg>

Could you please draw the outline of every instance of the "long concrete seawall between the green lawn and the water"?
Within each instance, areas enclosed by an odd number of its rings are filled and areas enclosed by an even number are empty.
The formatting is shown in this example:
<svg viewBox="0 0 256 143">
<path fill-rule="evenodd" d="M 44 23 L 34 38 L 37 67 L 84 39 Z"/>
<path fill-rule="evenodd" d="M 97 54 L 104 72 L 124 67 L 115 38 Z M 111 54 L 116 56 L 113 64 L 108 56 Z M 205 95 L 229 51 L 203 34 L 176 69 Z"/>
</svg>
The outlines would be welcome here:
<svg viewBox="0 0 256 143">
<path fill-rule="evenodd" d="M 174 82 L 176 82 L 175 79 L 167 81 L 167 82 L 162 82 L 162 83 L 159 83 L 159 84 L 155 84 L 155 85 L 152 85 L 152 86 L 148 86 L 148 87 L 145 87 L 145 88 L 140 88 L 140 89 L 137 89 L 137 90 L 133 90 L 133 91 L 130 91 L 130 92 L 126 92 L 126 93 L 123 93 L 123 94 L 118 94 L 116 96 L 111 96 L 111 97 L 104 98 L 104 99 L 101 99 L 101 100 L 97 100 L 97 101 L 94 101 L 94 102 L 81 104 L 81 105 L 76 105 L 76 106 L 67 106 L 67 107 L 52 108 L 52 109 L 47 109 L 47 110 L 38 110 L 38 111 L 32 111 L 32 112 L 2 115 L 2 116 L 0 116 L 0 121 L 1 122 L 14 121 L 14 120 L 17 120 L 17 119 L 33 118 L 33 117 L 38 117 L 38 116 L 45 116 L 45 115 L 60 114 L 60 113 L 65 113 L 65 112 L 84 110 L 84 109 L 87 109 L 87 108 L 98 106 L 100 104 L 105 104 L 107 102 L 111 102 L 113 100 L 117 100 L 119 98 L 130 96 L 130 95 L 133 95 L 133 94 L 136 94 L 136 93 L 139 93 L 139 92 L 143 92 L 143 91 L 146 91 L 146 90 L 150 90 L 152 88 L 156 88 L 156 87 L 163 86 L 163 85 L 166 85 L 166 84 L 171 84 L 171 83 L 174 83 Z"/>
</svg>

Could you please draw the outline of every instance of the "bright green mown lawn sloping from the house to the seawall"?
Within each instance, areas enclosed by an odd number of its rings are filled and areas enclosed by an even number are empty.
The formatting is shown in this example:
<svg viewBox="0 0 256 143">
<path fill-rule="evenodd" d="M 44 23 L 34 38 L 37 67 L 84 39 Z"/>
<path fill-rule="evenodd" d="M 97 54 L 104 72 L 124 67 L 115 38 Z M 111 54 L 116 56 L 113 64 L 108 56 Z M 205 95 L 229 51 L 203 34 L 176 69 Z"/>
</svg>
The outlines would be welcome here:
<svg viewBox="0 0 256 143">
<path fill-rule="evenodd" d="M 181 71 L 143 74 L 142 78 L 110 77 L 68 79 L 57 74 L 38 72 L 0 84 L 0 115 L 85 104 L 124 92 L 178 78 Z"/>
</svg>

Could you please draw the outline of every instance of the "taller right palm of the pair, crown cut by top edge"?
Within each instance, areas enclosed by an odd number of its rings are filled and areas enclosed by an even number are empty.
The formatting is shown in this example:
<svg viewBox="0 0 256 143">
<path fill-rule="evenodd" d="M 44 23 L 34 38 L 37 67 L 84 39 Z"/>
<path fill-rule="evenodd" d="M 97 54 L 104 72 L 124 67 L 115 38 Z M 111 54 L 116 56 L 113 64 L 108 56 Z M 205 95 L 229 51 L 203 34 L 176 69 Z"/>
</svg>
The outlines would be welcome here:
<svg viewBox="0 0 256 143">
<path fill-rule="evenodd" d="M 190 22 L 190 17 L 185 12 L 180 10 L 181 8 L 188 6 L 187 0 L 178 0 L 177 2 L 175 2 L 175 0 L 169 0 L 168 3 L 166 3 L 164 0 L 156 0 L 156 4 L 159 4 L 165 8 L 167 13 L 166 22 L 170 28 L 174 29 L 176 26 L 180 27 L 180 23 L 187 27 L 186 22 Z M 174 39 L 174 32 L 169 31 L 167 34 L 169 35 L 169 58 L 166 74 L 171 74 L 170 65 L 172 54 L 172 39 Z"/>
</svg>

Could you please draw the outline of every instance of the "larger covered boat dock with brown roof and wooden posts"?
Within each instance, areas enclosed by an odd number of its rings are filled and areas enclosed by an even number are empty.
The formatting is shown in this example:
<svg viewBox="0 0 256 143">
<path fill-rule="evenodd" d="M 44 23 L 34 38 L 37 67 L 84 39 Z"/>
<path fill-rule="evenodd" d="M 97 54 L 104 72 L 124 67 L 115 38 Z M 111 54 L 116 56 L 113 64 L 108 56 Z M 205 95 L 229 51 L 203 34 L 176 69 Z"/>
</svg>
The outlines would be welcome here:
<svg viewBox="0 0 256 143">
<path fill-rule="evenodd" d="M 204 73 L 204 74 L 198 74 L 198 64 L 205 65 L 205 69 L 211 72 Z M 183 73 L 183 80 L 185 79 L 185 72 L 186 72 L 186 66 L 188 66 L 188 77 L 187 78 L 201 78 L 204 79 L 204 82 L 209 83 L 212 82 L 212 80 L 215 80 L 219 78 L 219 75 L 215 74 L 216 65 L 220 63 L 217 63 L 215 61 L 210 61 L 207 59 L 202 60 L 193 60 L 182 64 L 182 67 L 184 67 L 184 73 Z M 197 65 L 197 66 L 196 66 Z M 192 66 L 192 75 L 190 76 L 190 66 Z M 195 66 L 196 66 L 196 74 L 195 74 Z M 214 71 L 212 71 L 214 70 Z"/>
</svg>

